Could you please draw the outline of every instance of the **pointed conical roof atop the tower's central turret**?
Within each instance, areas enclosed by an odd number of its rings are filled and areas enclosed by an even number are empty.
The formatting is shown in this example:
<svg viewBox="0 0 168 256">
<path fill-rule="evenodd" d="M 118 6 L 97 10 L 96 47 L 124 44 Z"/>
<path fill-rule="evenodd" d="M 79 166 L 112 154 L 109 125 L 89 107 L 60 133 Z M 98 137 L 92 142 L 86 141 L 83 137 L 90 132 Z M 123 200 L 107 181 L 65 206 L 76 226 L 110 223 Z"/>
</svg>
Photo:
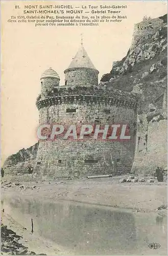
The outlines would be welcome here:
<svg viewBox="0 0 168 256">
<path fill-rule="evenodd" d="M 89 56 L 87 55 L 87 52 L 85 51 L 82 44 L 67 69 L 71 69 L 71 68 L 95 69 L 93 63 L 91 62 L 91 60 L 90 60 Z"/>
</svg>

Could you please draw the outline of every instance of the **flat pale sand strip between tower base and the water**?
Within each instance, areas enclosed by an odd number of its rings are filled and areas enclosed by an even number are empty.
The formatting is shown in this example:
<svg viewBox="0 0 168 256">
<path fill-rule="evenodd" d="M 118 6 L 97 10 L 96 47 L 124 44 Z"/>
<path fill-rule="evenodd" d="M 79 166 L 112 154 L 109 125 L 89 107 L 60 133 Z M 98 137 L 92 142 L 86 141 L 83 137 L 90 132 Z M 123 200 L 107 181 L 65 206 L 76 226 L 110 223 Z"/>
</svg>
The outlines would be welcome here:
<svg viewBox="0 0 168 256">
<path fill-rule="evenodd" d="M 12 182 L 10 187 L 3 186 L 2 184 L 2 195 L 11 193 L 11 195 L 15 195 L 16 197 L 19 194 L 23 197 L 71 200 L 146 211 L 153 211 L 160 205 L 166 204 L 166 181 L 157 182 L 155 179 L 154 183 L 119 183 L 121 179 L 122 177 L 119 176 L 103 179 L 59 180 L 50 182 L 24 182 L 16 180 Z M 146 181 L 148 181 L 148 178 Z M 19 185 L 14 185 L 15 183 L 19 183 Z M 20 185 L 24 187 L 20 188 Z"/>
</svg>

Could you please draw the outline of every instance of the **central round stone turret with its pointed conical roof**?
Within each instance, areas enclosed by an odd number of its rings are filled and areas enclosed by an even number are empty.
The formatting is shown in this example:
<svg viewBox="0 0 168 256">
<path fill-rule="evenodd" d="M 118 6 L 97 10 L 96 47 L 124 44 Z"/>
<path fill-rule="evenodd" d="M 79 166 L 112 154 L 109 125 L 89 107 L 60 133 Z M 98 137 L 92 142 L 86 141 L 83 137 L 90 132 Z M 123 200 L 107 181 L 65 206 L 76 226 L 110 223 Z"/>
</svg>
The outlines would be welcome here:
<svg viewBox="0 0 168 256">
<path fill-rule="evenodd" d="M 94 68 L 83 44 L 64 73 L 65 86 L 98 85 L 99 71 Z"/>
</svg>

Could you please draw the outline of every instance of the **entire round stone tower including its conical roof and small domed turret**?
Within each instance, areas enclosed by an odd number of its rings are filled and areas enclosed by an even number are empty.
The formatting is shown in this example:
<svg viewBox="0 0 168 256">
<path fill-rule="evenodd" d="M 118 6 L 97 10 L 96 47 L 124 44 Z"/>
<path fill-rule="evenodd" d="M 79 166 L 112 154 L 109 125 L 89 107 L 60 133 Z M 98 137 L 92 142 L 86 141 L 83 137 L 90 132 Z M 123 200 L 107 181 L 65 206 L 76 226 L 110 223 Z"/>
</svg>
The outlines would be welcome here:
<svg viewBox="0 0 168 256">
<path fill-rule="evenodd" d="M 41 75 L 41 95 L 36 102 L 39 123 L 80 126 L 123 122 L 129 125 L 131 140 L 40 140 L 34 172 L 51 179 L 127 173 L 134 160 L 135 95 L 99 86 L 99 71 L 83 45 L 64 73 L 64 86 L 59 85 L 59 76 L 52 69 Z"/>
</svg>

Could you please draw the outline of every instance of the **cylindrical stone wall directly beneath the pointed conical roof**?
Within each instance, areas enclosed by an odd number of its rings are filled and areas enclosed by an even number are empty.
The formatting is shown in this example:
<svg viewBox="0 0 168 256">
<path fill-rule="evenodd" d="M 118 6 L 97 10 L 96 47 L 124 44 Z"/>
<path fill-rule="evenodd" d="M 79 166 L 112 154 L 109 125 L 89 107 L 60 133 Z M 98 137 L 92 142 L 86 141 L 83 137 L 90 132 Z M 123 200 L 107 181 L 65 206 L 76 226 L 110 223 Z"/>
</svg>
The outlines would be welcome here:
<svg viewBox="0 0 168 256">
<path fill-rule="evenodd" d="M 98 84 L 98 70 L 89 68 L 67 69 L 65 73 L 65 85 L 86 86 L 87 84 Z"/>
</svg>

